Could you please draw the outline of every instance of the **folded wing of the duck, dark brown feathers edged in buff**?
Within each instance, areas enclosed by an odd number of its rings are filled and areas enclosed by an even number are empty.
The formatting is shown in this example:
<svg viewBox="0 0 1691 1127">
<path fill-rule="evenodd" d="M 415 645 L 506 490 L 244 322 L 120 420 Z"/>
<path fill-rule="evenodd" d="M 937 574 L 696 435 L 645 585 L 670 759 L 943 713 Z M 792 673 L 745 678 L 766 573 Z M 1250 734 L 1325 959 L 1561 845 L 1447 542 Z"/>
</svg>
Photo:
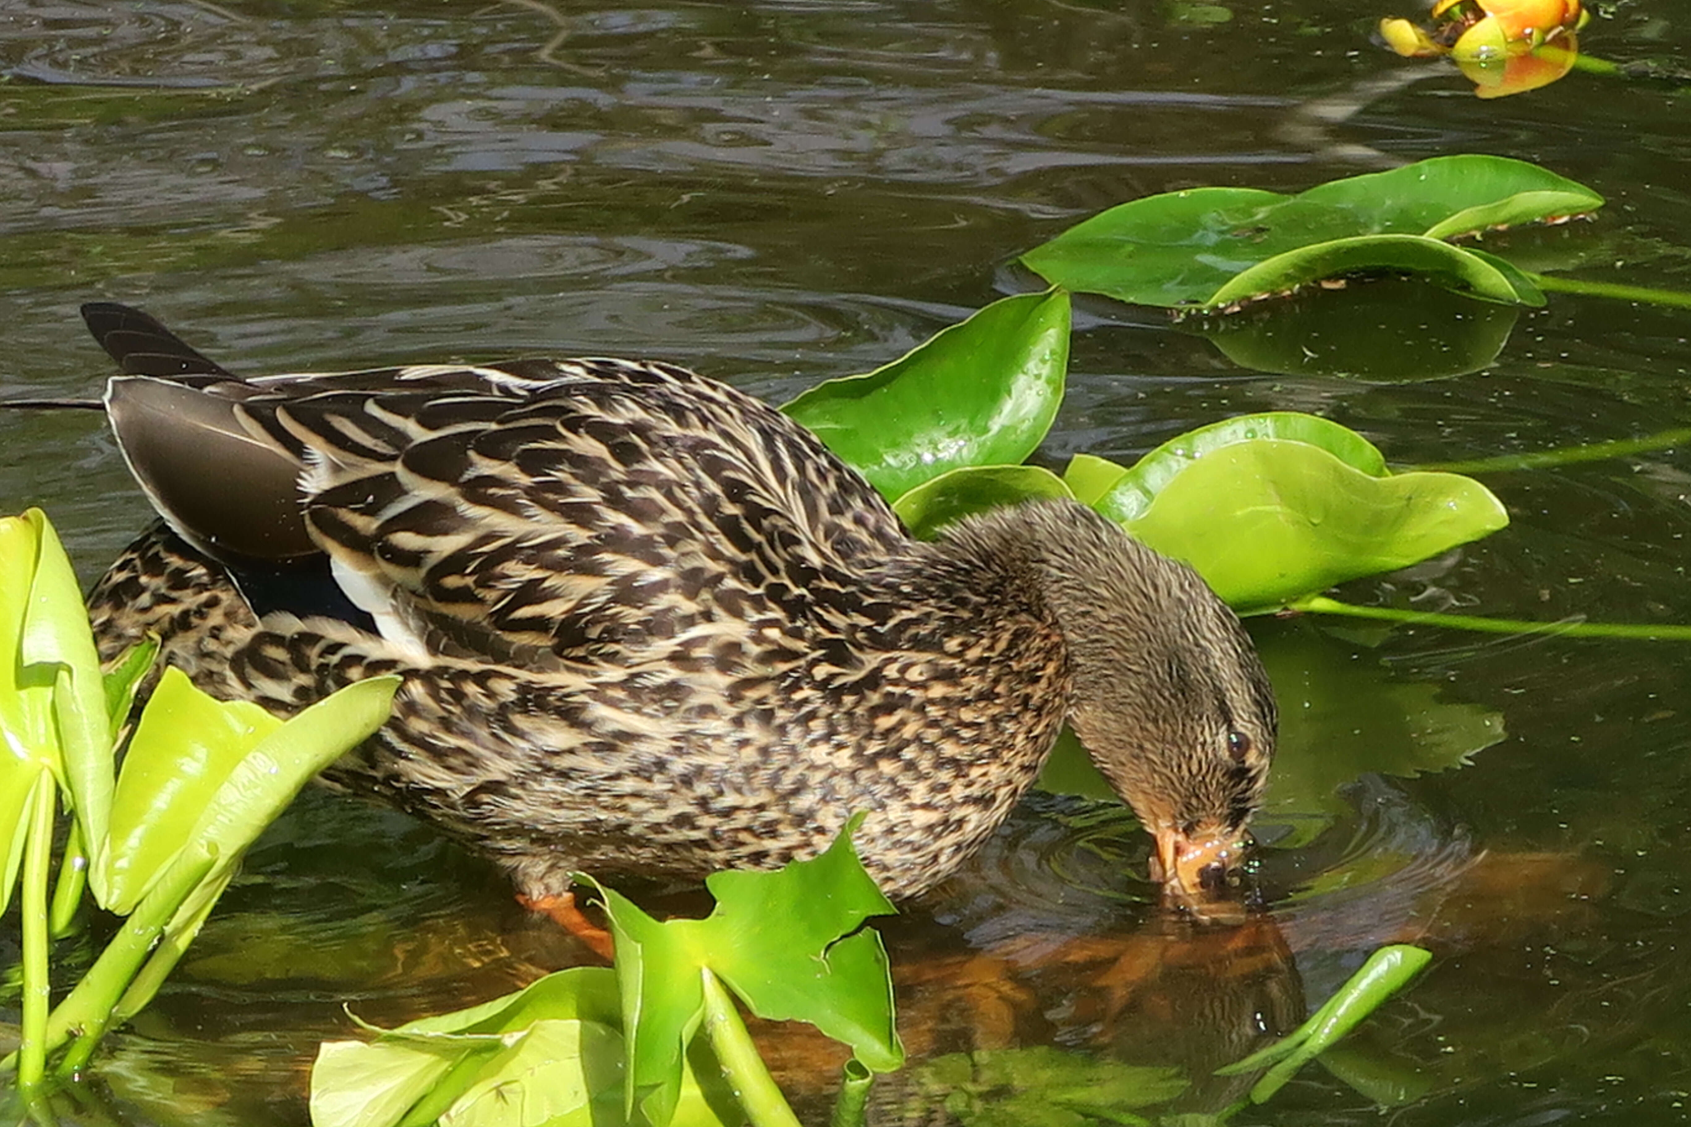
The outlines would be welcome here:
<svg viewBox="0 0 1691 1127">
<path fill-rule="evenodd" d="M 851 613 L 851 569 L 906 542 L 815 436 L 671 365 L 193 378 L 112 380 L 154 505 L 225 563 L 326 554 L 414 656 L 720 664 L 747 637 L 802 647 L 818 615 Z"/>
</svg>

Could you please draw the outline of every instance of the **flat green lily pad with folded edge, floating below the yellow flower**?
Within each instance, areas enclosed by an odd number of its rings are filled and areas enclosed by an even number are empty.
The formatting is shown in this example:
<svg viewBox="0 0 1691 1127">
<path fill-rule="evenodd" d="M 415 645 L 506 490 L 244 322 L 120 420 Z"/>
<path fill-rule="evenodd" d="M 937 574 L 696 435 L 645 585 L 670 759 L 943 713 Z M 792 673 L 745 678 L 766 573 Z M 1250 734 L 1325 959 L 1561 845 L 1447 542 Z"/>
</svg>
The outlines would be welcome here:
<svg viewBox="0 0 1691 1127">
<path fill-rule="evenodd" d="M 1356 272 L 1417 274 L 1486 301 L 1541 306 L 1525 274 L 1442 240 L 1601 204 L 1524 161 L 1434 157 L 1297 196 L 1201 188 L 1135 199 L 1021 262 L 1055 286 L 1146 306 L 1216 309 Z"/>
</svg>

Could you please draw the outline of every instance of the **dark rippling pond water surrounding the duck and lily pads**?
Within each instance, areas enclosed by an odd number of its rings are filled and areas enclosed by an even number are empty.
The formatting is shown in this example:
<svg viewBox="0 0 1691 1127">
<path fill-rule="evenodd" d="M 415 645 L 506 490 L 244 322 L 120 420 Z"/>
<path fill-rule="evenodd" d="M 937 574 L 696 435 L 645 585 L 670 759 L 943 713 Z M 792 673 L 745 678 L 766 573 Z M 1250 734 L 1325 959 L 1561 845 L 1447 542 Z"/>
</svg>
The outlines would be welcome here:
<svg viewBox="0 0 1691 1127">
<path fill-rule="evenodd" d="M 1488 247 L 1691 289 L 1681 88 L 1574 74 L 1481 101 L 1371 42 L 1378 17 L 1422 15 L 1378 2 L 5 0 L 0 377 L 8 395 L 93 394 L 107 365 L 74 309 L 112 299 L 242 372 L 609 353 L 785 399 L 1028 287 L 1004 264 L 1113 203 L 1449 152 L 1537 161 L 1610 201 Z M 1586 51 L 1691 69 L 1683 5 L 1600 7 Z M 1517 316 L 1382 284 L 1305 313 L 1267 326 L 1282 362 L 1251 368 L 1229 355 L 1261 353 L 1229 335 L 1082 301 L 1040 460 L 1131 460 L 1260 409 L 1331 416 L 1393 465 L 1691 421 L 1684 311 L 1554 296 Z M 1495 358 L 1475 333 L 1505 341 Z M 1507 531 L 1343 595 L 1691 622 L 1691 455 L 1485 482 Z M 0 414 L 0 502 L 44 505 L 90 576 L 147 519 L 81 412 Z M 1079 1124 L 1057 1088 L 1131 1066 L 1192 1078 L 1138 1113 L 1214 1113 L 1241 1086 L 1211 1068 L 1378 945 L 1417 941 L 1424 978 L 1236 1122 L 1684 1122 L 1691 649 L 1253 632 L 1287 745 L 1261 917 L 1167 919 L 1125 811 L 1035 796 L 888 928 L 913 1064 L 876 1119 Z M 582 958 L 428 828 L 308 792 L 68 1117 L 303 1124 L 316 1044 L 352 1032 L 343 1002 L 394 1024 Z M 825 1117 L 834 1058 L 766 1044 Z M 1010 1048 L 974 1073 L 947 1058 Z"/>
</svg>

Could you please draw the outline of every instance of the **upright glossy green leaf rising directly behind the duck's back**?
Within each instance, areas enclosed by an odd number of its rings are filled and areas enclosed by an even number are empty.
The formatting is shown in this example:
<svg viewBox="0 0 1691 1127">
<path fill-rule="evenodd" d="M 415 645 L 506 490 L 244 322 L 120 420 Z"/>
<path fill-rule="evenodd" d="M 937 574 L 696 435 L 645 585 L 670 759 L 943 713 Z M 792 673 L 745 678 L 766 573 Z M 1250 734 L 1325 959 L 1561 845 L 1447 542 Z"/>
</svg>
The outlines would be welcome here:
<svg viewBox="0 0 1691 1127">
<path fill-rule="evenodd" d="M 1069 296 L 1021 294 L 781 411 L 893 500 L 947 470 L 1032 455 L 1057 417 L 1067 370 Z"/>
</svg>

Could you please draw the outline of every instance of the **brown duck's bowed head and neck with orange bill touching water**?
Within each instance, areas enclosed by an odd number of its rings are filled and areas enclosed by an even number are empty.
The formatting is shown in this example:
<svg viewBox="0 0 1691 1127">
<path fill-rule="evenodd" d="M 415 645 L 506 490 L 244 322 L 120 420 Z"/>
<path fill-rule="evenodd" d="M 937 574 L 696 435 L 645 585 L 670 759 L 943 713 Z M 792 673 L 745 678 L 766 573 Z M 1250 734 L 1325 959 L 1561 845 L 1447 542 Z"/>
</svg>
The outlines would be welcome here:
<svg viewBox="0 0 1691 1127">
<path fill-rule="evenodd" d="M 1229 884 L 1273 759 L 1273 689 L 1238 617 L 1185 564 L 1074 502 L 1021 505 L 1067 642 L 1070 725 L 1155 836 L 1152 877 L 1199 907 Z"/>
</svg>

